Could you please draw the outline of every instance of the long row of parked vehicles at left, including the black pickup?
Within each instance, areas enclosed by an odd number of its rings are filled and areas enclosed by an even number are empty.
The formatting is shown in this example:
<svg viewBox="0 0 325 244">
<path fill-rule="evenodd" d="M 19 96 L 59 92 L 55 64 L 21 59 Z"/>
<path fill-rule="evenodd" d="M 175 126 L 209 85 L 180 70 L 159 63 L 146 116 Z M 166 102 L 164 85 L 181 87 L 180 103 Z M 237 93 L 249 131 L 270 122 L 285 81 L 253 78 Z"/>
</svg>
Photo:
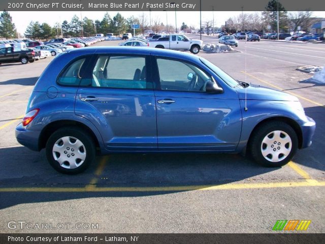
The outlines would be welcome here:
<svg viewBox="0 0 325 244">
<path fill-rule="evenodd" d="M 22 64 L 33 63 L 35 60 L 55 56 L 68 49 L 90 46 L 104 41 L 104 37 L 85 38 L 55 38 L 48 42 L 36 40 L 5 40 L 0 41 L 0 64 L 21 62 Z"/>
</svg>

